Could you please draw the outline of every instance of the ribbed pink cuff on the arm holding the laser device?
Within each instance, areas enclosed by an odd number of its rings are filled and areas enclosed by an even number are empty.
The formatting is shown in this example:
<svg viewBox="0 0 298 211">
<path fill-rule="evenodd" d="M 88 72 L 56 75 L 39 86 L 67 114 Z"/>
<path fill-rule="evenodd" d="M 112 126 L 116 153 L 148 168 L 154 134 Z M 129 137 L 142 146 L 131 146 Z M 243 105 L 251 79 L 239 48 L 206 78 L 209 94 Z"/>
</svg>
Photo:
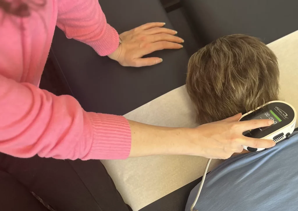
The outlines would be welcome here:
<svg viewBox="0 0 298 211">
<path fill-rule="evenodd" d="M 93 129 L 91 150 L 83 158 L 126 159 L 131 150 L 131 129 L 128 120 L 111 114 L 88 113 Z"/>
</svg>

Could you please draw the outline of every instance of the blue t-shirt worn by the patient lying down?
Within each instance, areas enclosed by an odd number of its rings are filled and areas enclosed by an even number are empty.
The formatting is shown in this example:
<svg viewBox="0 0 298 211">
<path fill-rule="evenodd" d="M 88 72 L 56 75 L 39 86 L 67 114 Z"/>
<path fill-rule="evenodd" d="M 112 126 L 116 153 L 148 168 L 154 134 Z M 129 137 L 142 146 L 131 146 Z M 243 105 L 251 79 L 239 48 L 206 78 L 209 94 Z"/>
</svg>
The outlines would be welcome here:
<svg viewBox="0 0 298 211">
<path fill-rule="evenodd" d="M 193 188 L 189 211 L 201 183 Z M 298 133 L 273 148 L 231 157 L 207 176 L 194 210 L 298 210 Z"/>
</svg>

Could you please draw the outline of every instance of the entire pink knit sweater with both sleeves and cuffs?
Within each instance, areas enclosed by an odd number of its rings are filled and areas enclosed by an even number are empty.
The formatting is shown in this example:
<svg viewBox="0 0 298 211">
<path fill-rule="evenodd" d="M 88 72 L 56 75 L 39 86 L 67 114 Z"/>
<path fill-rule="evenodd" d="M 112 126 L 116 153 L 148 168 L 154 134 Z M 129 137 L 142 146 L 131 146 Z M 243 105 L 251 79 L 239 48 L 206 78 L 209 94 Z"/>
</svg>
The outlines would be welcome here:
<svg viewBox="0 0 298 211">
<path fill-rule="evenodd" d="M 98 1 L 29 6 L 27 18 L 0 8 L 0 151 L 18 157 L 127 158 L 131 131 L 124 117 L 86 112 L 75 98 L 38 88 L 56 24 L 99 55 L 117 49 L 118 33 L 106 23 Z"/>
</svg>

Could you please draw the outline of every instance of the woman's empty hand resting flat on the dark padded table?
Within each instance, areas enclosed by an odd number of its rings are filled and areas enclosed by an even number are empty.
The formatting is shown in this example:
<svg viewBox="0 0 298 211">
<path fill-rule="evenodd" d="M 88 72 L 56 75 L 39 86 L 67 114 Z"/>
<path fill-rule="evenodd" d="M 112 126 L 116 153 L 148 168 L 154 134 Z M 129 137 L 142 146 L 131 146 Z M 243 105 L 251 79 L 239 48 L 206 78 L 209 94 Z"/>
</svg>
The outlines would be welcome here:
<svg viewBox="0 0 298 211">
<path fill-rule="evenodd" d="M 147 23 L 119 35 L 122 43 L 108 55 L 122 66 L 150 66 L 162 62 L 162 58 L 142 58 L 162 49 L 180 49 L 184 40 L 175 36 L 175 30 L 163 28 L 165 23 Z"/>
</svg>

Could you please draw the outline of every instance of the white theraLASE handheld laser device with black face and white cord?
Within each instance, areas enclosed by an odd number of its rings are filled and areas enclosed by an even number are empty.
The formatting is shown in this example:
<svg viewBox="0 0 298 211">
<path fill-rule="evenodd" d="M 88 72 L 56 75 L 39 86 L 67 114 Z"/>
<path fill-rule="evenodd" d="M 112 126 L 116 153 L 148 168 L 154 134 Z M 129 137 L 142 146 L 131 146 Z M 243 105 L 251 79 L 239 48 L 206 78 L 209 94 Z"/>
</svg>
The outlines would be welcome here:
<svg viewBox="0 0 298 211">
<path fill-rule="evenodd" d="M 295 129 L 296 118 L 297 113 L 293 106 L 291 106 L 289 103 L 276 100 L 266 103 L 253 111 L 247 112 L 246 114 L 243 114 L 239 121 L 258 119 L 273 120 L 274 123 L 272 125 L 268 127 L 244 131 L 243 135 L 252 138 L 269 139 L 277 143 L 284 139 L 288 139 L 291 136 Z M 243 149 L 248 150 L 250 152 L 264 150 L 264 148 L 251 148 L 247 146 L 243 146 Z M 202 177 L 201 185 L 198 190 L 198 194 L 192 206 L 190 207 L 190 211 L 198 211 L 193 210 L 193 208 L 200 196 L 211 160 L 212 159 L 209 159 L 207 162 L 204 175 Z"/>
</svg>

